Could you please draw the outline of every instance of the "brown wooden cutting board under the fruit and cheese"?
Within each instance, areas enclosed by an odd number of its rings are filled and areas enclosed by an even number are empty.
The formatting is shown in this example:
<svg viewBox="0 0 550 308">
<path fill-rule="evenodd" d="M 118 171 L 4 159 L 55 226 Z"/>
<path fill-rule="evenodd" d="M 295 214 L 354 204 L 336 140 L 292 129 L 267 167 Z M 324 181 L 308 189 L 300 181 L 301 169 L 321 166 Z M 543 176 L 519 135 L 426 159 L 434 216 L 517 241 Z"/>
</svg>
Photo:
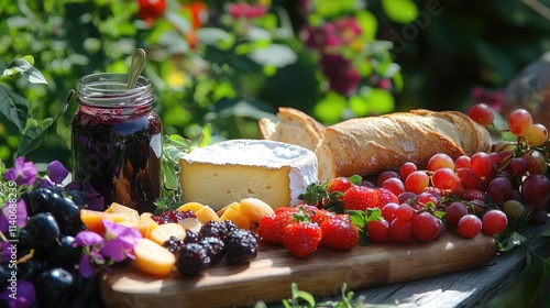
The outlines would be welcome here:
<svg viewBox="0 0 550 308">
<path fill-rule="evenodd" d="M 158 279 L 132 265 L 113 268 L 101 282 L 107 307 L 252 307 L 257 301 L 280 304 L 290 284 L 316 296 L 339 296 L 350 289 L 413 280 L 487 265 L 496 254 L 492 237 L 462 239 L 447 231 L 436 241 L 372 244 L 350 252 L 319 249 L 298 260 L 283 248 L 261 246 L 250 265 L 223 261 L 197 278 L 176 270 Z"/>
</svg>

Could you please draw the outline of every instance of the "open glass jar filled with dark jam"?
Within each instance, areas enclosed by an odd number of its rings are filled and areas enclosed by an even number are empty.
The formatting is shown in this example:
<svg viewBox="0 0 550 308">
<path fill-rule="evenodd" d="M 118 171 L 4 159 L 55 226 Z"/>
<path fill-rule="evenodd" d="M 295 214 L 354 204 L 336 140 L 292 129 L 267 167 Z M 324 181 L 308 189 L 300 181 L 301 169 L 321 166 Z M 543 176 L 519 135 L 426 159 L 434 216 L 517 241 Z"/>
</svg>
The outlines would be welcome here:
<svg viewBox="0 0 550 308">
<path fill-rule="evenodd" d="M 78 80 L 72 120 L 73 180 L 140 213 L 161 196 L 162 124 L 153 110 L 151 81 L 128 74 L 94 74 Z"/>
</svg>

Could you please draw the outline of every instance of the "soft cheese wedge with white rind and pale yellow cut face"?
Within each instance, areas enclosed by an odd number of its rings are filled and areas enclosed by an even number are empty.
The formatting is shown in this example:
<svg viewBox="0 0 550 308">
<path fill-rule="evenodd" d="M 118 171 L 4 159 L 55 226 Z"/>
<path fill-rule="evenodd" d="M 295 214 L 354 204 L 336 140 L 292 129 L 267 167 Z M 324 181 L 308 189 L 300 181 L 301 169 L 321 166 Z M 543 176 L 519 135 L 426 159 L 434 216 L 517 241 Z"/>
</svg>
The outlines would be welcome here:
<svg viewBox="0 0 550 308">
<path fill-rule="evenodd" d="M 179 161 L 182 201 L 215 210 L 254 197 L 273 208 L 295 206 L 317 180 L 312 151 L 267 140 L 230 140 L 199 147 Z"/>
</svg>

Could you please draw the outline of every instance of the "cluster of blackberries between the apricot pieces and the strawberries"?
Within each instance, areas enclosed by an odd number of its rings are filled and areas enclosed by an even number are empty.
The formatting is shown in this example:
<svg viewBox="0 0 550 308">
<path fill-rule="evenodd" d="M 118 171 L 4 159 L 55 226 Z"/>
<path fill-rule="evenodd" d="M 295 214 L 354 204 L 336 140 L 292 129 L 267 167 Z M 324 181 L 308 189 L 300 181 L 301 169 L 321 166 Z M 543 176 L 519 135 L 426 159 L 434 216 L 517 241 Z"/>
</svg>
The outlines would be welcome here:
<svg viewBox="0 0 550 308">
<path fill-rule="evenodd" d="M 209 221 L 198 233 L 187 230 L 186 238 L 170 238 L 163 244 L 176 257 L 176 268 L 186 277 L 200 275 L 227 257 L 230 264 L 248 264 L 257 255 L 257 239 L 250 230 L 237 228 L 231 220 Z"/>
</svg>

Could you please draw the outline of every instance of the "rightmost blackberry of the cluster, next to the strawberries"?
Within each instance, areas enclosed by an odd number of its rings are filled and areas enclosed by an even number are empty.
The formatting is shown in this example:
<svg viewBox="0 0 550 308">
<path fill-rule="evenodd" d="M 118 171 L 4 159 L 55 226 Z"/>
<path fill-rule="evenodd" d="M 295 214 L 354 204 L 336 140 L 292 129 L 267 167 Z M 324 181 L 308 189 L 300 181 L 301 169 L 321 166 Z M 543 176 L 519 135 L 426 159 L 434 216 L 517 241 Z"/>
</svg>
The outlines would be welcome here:
<svg viewBox="0 0 550 308">
<path fill-rule="evenodd" d="M 248 264 L 257 255 L 257 239 L 250 230 L 237 229 L 228 235 L 226 255 L 231 264 Z"/>
</svg>

